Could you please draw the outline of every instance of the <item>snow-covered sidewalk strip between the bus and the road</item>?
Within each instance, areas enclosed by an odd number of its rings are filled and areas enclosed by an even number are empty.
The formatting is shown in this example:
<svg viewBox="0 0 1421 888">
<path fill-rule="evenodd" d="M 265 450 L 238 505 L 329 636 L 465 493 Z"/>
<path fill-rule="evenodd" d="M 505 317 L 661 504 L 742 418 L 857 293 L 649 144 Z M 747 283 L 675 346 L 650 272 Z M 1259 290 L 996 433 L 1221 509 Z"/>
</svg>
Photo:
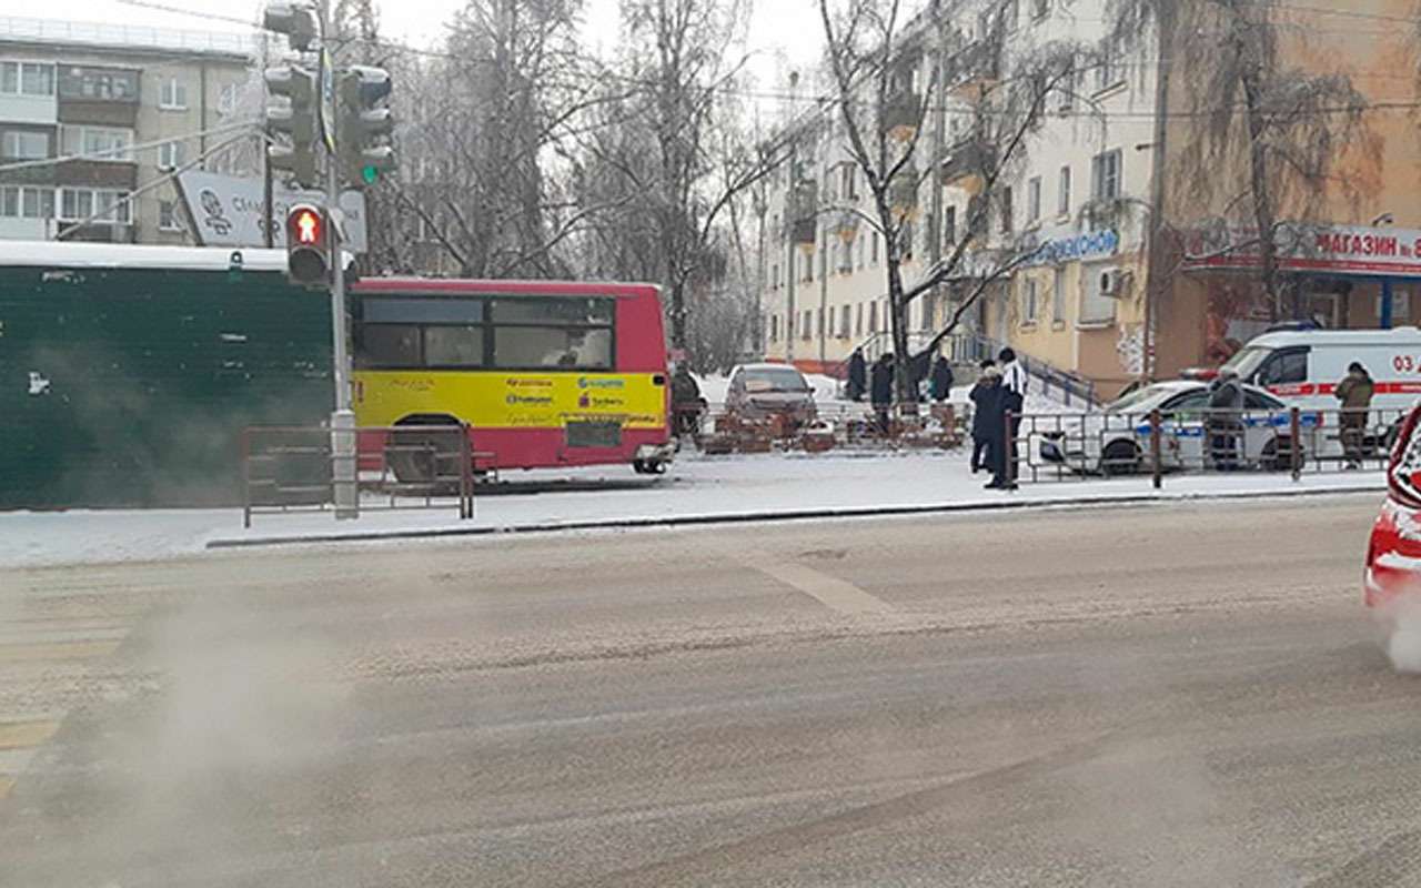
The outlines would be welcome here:
<svg viewBox="0 0 1421 888">
<path fill-rule="evenodd" d="M 560 479 L 595 489 L 557 490 Z M 1023 484 L 1019 492 L 983 490 L 958 453 L 827 453 L 718 456 L 688 455 L 659 479 L 620 466 L 504 476 L 504 489 L 480 496 L 476 517 L 460 521 L 455 506 L 432 511 L 367 511 L 358 521 L 331 513 L 257 514 L 252 530 L 242 513 L 210 510 L 114 510 L 0 514 L 0 565 L 165 558 L 202 551 L 215 540 L 333 537 L 468 529 L 585 527 L 605 521 L 696 520 L 730 516 L 848 516 L 875 509 L 999 506 L 1002 503 L 1110 502 L 1151 496 L 1148 479 L 1090 479 Z M 539 492 L 529 482 L 541 482 Z M 522 489 L 520 489 L 522 486 Z M 553 487 L 549 490 L 549 487 Z M 1383 490 L 1380 472 L 1304 476 L 1182 476 L 1165 480 L 1162 497 L 1268 494 L 1297 490 Z"/>
</svg>

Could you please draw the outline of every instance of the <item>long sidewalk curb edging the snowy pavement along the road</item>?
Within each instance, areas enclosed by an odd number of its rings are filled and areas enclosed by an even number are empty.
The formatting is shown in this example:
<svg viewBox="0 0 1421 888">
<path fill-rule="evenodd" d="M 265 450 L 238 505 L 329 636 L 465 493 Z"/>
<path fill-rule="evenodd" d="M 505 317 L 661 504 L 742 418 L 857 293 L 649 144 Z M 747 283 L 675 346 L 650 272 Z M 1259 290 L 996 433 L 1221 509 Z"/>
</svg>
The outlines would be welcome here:
<svg viewBox="0 0 1421 888">
<path fill-rule="evenodd" d="M 1383 484 L 1353 484 L 1347 487 L 1302 490 L 1222 490 L 1199 493 L 1130 493 L 1054 497 L 1043 500 L 1003 500 L 999 503 L 968 502 L 921 506 L 863 506 L 843 509 L 794 509 L 787 511 L 737 511 L 726 514 L 692 514 L 666 517 L 635 517 L 585 521 L 540 521 L 534 524 L 506 524 L 483 527 L 431 527 L 428 530 L 371 530 L 273 537 L 226 537 L 207 540 L 206 548 L 254 548 L 259 546 L 300 546 L 311 543 L 377 543 L 381 540 L 422 540 L 439 537 L 493 537 L 510 534 L 567 533 L 577 530 L 635 530 L 645 527 L 696 527 L 713 524 L 756 524 L 780 521 L 813 521 L 827 519 L 877 519 L 914 514 L 956 514 L 972 511 L 1026 511 L 1034 509 L 1071 509 L 1093 506 L 1141 506 L 1154 503 L 1187 503 L 1204 500 L 1242 499 L 1299 499 L 1312 496 L 1343 496 L 1356 493 L 1384 493 Z"/>
</svg>

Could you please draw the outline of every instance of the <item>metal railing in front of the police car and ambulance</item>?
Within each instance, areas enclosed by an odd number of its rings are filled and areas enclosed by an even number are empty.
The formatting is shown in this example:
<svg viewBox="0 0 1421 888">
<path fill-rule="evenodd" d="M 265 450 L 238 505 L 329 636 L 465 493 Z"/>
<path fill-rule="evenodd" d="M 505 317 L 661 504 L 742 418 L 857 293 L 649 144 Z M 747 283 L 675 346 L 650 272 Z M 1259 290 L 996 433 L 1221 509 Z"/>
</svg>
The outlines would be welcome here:
<svg viewBox="0 0 1421 888">
<path fill-rule="evenodd" d="M 1015 480 L 1185 472 L 1343 472 L 1385 467 L 1410 411 L 1189 409 L 1006 418 Z"/>
</svg>

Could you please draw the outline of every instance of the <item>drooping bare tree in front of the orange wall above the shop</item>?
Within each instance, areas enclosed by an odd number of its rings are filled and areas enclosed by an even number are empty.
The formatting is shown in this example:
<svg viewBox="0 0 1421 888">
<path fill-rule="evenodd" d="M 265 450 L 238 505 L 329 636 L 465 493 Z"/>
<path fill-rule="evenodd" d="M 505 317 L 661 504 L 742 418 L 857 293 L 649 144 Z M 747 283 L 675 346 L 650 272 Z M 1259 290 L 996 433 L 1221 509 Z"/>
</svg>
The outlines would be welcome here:
<svg viewBox="0 0 1421 888">
<path fill-rule="evenodd" d="M 1280 305 L 1279 234 L 1289 217 L 1309 217 L 1330 197 L 1356 202 L 1366 183 L 1340 163 L 1360 152 L 1376 168 L 1380 142 L 1366 124 L 1367 98 L 1346 74 L 1304 70 L 1292 60 L 1280 0 L 1111 0 L 1103 53 L 1155 41 L 1172 78 L 1168 109 L 1178 122 L 1171 193 L 1187 200 L 1177 217 L 1219 224 L 1248 207 L 1248 246 L 1260 259 L 1270 311 Z M 1300 47 L 1293 47 L 1300 48 Z M 1162 213 L 1162 207 L 1157 207 Z M 1235 244 L 1235 249 L 1242 244 Z"/>
</svg>

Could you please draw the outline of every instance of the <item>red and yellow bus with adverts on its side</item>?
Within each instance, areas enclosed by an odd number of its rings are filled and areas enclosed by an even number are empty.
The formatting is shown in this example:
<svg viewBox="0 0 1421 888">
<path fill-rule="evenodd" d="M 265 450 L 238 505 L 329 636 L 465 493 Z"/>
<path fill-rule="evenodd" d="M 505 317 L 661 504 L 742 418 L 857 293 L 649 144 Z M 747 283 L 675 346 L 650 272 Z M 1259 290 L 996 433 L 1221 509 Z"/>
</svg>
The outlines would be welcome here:
<svg viewBox="0 0 1421 888">
<path fill-rule="evenodd" d="M 360 426 L 468 423 L 479 470 L 671 462 L 649 284 L 369 278 L 351 288 Z M 387 436 L 361 436 L 362 463 Z M 432 469 L 392 460 L 401 480 Z"/>
</svg>

